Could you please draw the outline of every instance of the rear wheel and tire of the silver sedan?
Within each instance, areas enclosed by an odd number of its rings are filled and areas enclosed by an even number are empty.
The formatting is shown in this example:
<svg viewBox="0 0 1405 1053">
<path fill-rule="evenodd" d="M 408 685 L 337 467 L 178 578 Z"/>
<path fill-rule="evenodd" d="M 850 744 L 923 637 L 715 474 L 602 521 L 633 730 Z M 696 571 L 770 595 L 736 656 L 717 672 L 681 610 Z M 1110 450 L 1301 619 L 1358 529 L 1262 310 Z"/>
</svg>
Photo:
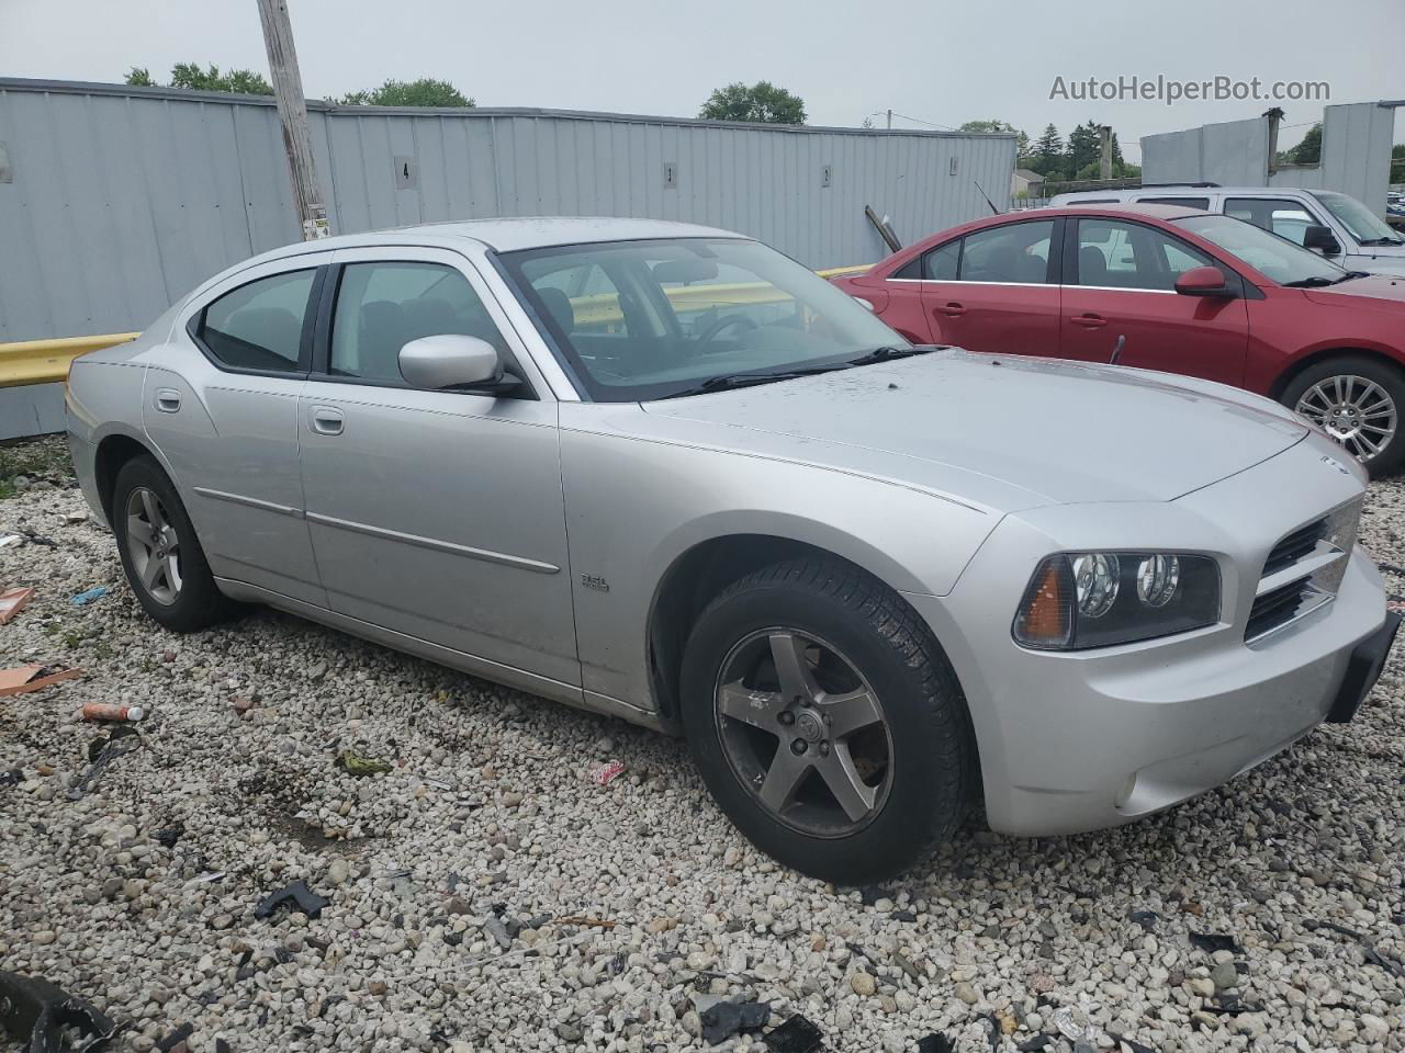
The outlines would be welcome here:
<svg viewBox="0 0 1405 1053">
<path fill-rule="evenodd" d="M 112 486 L 112 534 L 138 602 L 171 632 L 223 621 L 236 605 L 215 584 L 176 487 L 152 456 L 122 465 Z"/>
</svg>

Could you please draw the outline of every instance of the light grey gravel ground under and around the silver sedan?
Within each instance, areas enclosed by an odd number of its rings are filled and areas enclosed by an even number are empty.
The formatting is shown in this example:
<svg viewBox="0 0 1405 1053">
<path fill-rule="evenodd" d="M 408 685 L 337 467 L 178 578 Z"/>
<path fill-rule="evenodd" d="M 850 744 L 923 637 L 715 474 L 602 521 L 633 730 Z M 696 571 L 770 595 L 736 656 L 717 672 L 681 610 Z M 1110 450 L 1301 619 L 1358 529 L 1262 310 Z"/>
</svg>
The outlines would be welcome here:
<svg viewBox="0 0 1405 1053">
<path fill-rule="evenodd" d="M 0 665 L 87 671 L 0 698 L 0 772 L 21 771 L 0 779 L 0 967 L 128 1022 L 124 1049 L 184 1024 L 233 1053 L 704 1047 L 700 1011 L 739 995 L 832 1050 L 1012 1050 L 1059 1024 L 1090 1025 L 1080 1049 L 1405 1049 L 1399 653 L 1354 723 L 1228 788 L 1083 837 L 971 826 L 846 890 L 752 849 L 676 741 L 267 611 L 167 635 L 111 536 L 66 525 L 81 508 L 60 473 L 0 501 L 0 526 L 56 542 L 0 548 L 0 583 L 39 590 Z M 1402 525 L 1405 484 L 1374 486 L 1377 559 L 1405 566 Z M 94 701 L 150 716 L 74 800 Z M 346 748 L 393 768 L 353 776 Z M 295 879 L 320 917 L 257 920 Z"/>
</svg>

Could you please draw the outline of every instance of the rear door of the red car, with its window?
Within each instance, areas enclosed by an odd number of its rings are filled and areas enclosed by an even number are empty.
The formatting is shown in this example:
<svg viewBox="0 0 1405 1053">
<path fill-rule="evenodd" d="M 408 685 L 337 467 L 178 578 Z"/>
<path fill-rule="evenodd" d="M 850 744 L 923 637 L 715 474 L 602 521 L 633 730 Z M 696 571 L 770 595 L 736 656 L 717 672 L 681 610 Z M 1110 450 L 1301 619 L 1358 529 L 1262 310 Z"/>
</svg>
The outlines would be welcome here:
<svg viewBox="0 0 1405 1053">
<path fill-rule="evenodd" d="M 932 340 L 1002 355 L 1058 355 L 1052 240 L 1054 220 L 1019 219 L 927 253 L 922 303 Z"/>
</svg>

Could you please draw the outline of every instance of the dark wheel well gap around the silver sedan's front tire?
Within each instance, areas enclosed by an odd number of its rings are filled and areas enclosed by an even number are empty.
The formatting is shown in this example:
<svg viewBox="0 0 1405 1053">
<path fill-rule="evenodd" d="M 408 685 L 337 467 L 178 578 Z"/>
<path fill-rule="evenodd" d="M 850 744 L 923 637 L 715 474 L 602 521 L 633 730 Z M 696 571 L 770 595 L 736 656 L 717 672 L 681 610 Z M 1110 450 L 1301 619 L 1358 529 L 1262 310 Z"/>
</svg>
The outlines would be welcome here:
<svg viewBox="0 0 1405 1053">
<path fill-rule="evenodd" d="M 711 600 L 753 570 L 795 557 L 850 563 L 828 549 L 766 534 L 714 538 L 684 552 L 665 573 L 649 612 L 649 677 L 665 722 L 677 727 L 679 674 L 688 632 Z"/>
</svg>

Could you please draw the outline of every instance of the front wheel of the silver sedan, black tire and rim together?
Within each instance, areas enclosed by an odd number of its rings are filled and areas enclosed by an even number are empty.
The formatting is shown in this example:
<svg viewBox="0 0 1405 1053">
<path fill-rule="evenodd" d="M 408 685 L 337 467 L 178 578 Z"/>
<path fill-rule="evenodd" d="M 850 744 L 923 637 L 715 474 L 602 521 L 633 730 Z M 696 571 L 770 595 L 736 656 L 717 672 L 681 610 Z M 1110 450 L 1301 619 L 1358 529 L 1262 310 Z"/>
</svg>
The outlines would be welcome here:
<svg viewBox="0 0 1405 1053">
<path fill-rule="evenodd" d="M 916 614 L 839 560 L 790 560 L 722 591 L 683 656 L 702 781 L 762 851 L 863 885 L 950 837 L 975 747 L 965 698 Z"/>
</svg>

